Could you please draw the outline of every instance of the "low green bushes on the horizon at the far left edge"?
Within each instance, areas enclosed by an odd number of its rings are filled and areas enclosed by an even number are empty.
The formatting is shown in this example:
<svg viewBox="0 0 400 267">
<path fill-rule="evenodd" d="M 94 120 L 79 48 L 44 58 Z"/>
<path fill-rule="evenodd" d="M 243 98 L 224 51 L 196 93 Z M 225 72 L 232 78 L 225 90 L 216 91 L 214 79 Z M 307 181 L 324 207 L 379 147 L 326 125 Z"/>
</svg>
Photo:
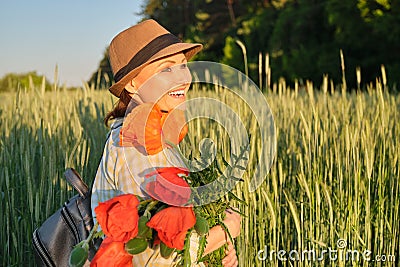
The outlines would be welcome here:
<svg viewBox="0 0 400 267">
<path fill-rule="evenodd" d="M 33 88 L 46 91 L 51 90 L 52 86 L 46 77 L 31 71 L 22 74 L 8 73 L 0 79 L 0 92 L 15 92 L 15 90 L 31 90 Z"/>
</svg>

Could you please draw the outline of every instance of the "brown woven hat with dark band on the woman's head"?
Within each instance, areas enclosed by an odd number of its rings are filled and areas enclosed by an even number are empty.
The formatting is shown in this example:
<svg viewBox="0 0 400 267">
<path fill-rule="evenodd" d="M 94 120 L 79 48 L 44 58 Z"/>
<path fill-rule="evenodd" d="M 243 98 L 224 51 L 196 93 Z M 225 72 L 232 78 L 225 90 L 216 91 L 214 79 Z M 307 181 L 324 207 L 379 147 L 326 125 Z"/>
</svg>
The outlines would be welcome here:
<svg viewBox="0 0 400 267">
<path fill-rule="evenodd" d="M 189 60 L 202 48 L 201 44 L 181 42 L 155 20 L 143 21 L 111 41 L 109 57 L 115 83 L 109 90 L 119 97 L 125 85 L 152 61 L 179 52 Z"/>
</svg>

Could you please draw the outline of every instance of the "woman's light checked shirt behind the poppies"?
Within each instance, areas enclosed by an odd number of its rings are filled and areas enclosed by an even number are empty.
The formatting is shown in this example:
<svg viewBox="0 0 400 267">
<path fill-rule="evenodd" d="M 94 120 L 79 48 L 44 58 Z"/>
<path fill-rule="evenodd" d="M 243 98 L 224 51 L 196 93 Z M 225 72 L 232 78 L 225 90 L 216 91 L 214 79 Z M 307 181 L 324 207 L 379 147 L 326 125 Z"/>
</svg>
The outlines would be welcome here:
<svg viewBox="0 0 400 267">
<path fill-rule="evenodd" d="M 96 173 L 92 188 L 92 212 L 99 202 L 104 202 L 117 195 L 135 194 L 148 197 L 140 188 L 144 176 L 157 167 L 182 167 L 183 162 L 173 149 L 164 149 L 155 155 L 143 155 L 134 147 L 119 145 L 119 132 L 123 119 L 119 118 L 111 125 L 103 156 Z M 190 238 L 190 256 L 192 266 L 204 266 L 196 263 L 199 236 L 195 231 Z M 147 248 L 144 252 L 133 256 L 133 266 L 175 266 L 179 255 L 174 252 L 168 259 L 160 255 L 159 246 Z"/>
</svg>

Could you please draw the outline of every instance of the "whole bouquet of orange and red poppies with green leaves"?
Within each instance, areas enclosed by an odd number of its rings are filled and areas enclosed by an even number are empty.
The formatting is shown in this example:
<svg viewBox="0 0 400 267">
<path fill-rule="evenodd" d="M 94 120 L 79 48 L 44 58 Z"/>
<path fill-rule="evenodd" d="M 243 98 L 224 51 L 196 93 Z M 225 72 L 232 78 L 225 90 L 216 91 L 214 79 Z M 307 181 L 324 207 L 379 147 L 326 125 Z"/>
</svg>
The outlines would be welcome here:
<svg viewBox="0 0 400 267">
<path fill-rule="evenodd" d="M 120 145 L 134 146 L 154 155 L 165 147 L 178 149 L 176 145 L 186 132 L 181 111 L 166 115 L 157 105 L 142 104 L 125 118 L 120 131 Z M 180 255 L 178 265 L 190 266 L 190 235 L 196 231 L 200 236 L 197 261 L 222 266 L 224 247 L 203 257 L 206 236 L 209 228 L 215 225 L 221 225 L 229 235 L 223 220 L 231 199 L 241 201 L 229 190 L 231 183 L 240 178 L 222 172 L 215 158 L 211 163 L 206 162 L 210 157 L 205 151 L 210 150 L 210 146 L 203 146 L 201 160 L 187 161 L 199 166 L 156 168 L 146 174 L 142 186 L 149 198 L 124 194 L 99 203 L 95 212 L 101 231 L 97 231 L 96 225 L 89 238 L 74 248 L 70 265 L 83 266 L 88 258 L 89 242 L 105 236 L 90 266 L 132 266 L 133 255 L 156 246 L 159 246 L 162 257 L 168 258 L 176 252 Z M 235 156 L 233 169 L 243 169 L 239 163 L 245 157 L 245 153 Z M 229 165 L 224 160 L 222 162 Z M 229 167 L 233 170 L 232 166 Z M 218 177 L 225 177 L 225 180 L 218 181 Z M 204 187 L 210 183 L 214 183 L 212 187 Z M 203 203 L 201 200 L 204 199 L 212 201 Z M 231 241 L 233 243 L 232 238 Z"/>
</svg>

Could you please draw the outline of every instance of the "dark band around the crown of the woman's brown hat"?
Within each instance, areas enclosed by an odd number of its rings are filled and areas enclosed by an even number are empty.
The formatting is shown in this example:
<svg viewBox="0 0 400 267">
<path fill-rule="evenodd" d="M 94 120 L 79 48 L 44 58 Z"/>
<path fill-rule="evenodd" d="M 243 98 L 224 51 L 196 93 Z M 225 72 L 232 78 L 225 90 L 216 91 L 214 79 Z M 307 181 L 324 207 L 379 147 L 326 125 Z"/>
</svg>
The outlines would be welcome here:
<svg viewBox="0 0 400 267">
<path fill-rule="evenodd" d="M 123 77 L 125 77 L 125 75 L 145 63 L 161 49 L 180 42 L 181 41 L 179 38 L 171 33 L 166 33 L 156 37 L 145 47 L 143 47 L 136 55 L 134 55 L 133 58 L 129 60 L 128 64 L 117 71 L 117 73 L 114 75 L 114 81 L 118 82 L 121 80 Z"/>
</svg>

